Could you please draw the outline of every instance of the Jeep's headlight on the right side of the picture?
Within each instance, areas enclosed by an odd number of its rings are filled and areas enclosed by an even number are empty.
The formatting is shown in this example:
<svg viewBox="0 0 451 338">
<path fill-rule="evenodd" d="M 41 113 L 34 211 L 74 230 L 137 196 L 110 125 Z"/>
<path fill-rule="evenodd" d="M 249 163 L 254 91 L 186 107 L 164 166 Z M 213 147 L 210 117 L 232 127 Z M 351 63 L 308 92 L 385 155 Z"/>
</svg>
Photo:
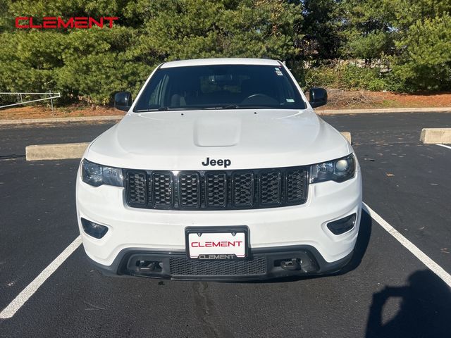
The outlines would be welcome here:
<svg viewBox="0 0 451 338">
<path fill-rule="evenodd" d="M 330 162 L 311 165 L 310 182 L 335 181 L 343 182 L 354 177 L 355 158 L 350 154 L 343 158 L 338 158 Z"/>
</svg>

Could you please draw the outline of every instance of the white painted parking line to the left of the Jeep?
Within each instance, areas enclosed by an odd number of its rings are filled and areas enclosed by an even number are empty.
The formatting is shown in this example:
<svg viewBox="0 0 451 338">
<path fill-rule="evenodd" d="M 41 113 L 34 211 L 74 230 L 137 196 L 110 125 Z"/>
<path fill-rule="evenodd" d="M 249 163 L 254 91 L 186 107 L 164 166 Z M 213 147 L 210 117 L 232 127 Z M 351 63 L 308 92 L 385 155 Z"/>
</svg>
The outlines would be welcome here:
<svg viewBox="0 0 451 338">
<path fill-rule="evenodd" d="M 4 311 L 1 311 L 0 319 L 13 317 L 13 315 L 23 306 L 23 304 L 30 299 L 30 297 L 37 291 L 37 289 L 39 289 L 39 287 L 41 287 L 47 278 L 49 278 L 64 261 L 66 261 L 66 259 L 73 253 L 73 251 L 75 251 L 75 249 L 78 248 L 78 246 L 80 246 L 81 243 L 82 239 L 80 236 L 75 238 L 75 240 L 70 243 L 69 246 L 42 271 L 42 273 L 39 273 L 35 280 L 28 284 L 28 286 L 25 287 L 25 289 L 23 289 L 23 291 L 20 292 L 20 294 L 18 294 L 18 296 L 16 296 L 16 298 L 11 301 L 6 308 L 4 308 Z"/>
</svg>

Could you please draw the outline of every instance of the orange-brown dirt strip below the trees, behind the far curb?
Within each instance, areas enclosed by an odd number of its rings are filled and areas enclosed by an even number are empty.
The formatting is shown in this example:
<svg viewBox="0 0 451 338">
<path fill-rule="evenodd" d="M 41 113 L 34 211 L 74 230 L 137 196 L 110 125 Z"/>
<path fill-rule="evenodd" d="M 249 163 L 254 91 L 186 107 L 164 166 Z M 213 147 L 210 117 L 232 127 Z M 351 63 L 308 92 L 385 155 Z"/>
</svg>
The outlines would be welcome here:
<svg viewBox="0 0 451 338">
<path fill-rule="evenodd" d="M 451 107 L 451 93 L 395 94 L 391 92 L 345 92 L 328 89 L 329 102 L 324 109 L 352 108 L 414 108 Z M 69 118 L 82 116 L 124 115 L 123 111 L 105 106 L 65 106 L 54 111 L 49 106 L 18 106 L 0 108 L 0 120 L 21 120 L 27 118 Z"/>
</svg>

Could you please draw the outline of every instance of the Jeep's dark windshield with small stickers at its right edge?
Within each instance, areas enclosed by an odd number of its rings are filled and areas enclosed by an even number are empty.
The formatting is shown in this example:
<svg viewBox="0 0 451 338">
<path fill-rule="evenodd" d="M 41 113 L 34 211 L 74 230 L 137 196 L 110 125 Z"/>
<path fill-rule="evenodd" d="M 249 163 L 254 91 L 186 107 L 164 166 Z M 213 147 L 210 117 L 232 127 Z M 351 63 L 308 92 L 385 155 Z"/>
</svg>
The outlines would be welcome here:
<svg viewBox="0 0 451 338">
<path fill-rule="evenodd" d="M 283 67 L 200 65 L 156 70 L 134 111 L 307 108 Z"/>
</svg>

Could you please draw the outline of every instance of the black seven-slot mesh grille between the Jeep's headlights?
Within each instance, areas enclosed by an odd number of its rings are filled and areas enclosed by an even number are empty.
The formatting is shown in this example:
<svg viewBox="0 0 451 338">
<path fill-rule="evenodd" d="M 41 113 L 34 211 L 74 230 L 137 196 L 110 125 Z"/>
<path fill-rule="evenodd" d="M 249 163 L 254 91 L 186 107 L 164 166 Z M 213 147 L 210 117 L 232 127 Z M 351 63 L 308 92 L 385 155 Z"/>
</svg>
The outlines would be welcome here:
<svg viewBox="0 0 451 338">
<path fill-rule="evenodd" d="M 307 201 L 307 167 L 254 170 L 125 170 L 128 206 L 224 210 L 274 208 Z"/>
</svg>

